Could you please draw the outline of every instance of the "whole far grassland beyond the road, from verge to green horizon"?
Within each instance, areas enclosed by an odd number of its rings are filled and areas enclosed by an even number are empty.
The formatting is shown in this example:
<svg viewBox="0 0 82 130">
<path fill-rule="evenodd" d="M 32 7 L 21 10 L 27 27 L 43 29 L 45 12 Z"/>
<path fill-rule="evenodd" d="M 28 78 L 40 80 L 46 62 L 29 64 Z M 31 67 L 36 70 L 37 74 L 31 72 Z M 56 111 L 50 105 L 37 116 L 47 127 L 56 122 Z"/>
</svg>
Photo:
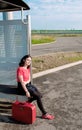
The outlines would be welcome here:
<svg viewBox="0 0 82 130">
<path fill-rule="evenodd" d="M 82 30 L 32 30 L 32 44 L 50 43 L 56 37 L 80 37 Z"/>
</svg>

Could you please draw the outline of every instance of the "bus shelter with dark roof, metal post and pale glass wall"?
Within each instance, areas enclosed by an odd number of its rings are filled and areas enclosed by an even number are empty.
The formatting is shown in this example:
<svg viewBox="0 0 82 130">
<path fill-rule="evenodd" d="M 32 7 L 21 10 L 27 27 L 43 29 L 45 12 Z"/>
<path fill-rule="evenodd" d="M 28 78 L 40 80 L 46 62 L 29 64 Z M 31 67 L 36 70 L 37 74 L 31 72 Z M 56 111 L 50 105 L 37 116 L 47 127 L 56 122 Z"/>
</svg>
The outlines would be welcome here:
<svg viewBox="0 0 82 130">
<path fill-rule="evenodd" d="M 0 84 L 15 85 L 20 58 L 31 54 L 30 16 L 23 19 L 23 11 L 29 9 L 22 0 L 0 0 L 0 12 L 21 11 L 19 20 L 0 21 Z"/>
</svg>

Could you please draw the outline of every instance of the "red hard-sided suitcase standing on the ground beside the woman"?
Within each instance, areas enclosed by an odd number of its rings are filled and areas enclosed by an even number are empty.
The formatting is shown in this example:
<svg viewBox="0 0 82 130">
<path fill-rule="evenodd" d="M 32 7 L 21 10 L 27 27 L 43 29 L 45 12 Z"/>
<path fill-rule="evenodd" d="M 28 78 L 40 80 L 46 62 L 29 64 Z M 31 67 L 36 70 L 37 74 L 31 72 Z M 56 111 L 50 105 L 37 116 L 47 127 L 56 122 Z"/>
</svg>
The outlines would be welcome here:
<svg viewBox="0 0 82 130">
<path fill-rule="evenodd" d="M 32 124 L 36 120 L 36 106 L 28 102 L 15 101 L 12 104 L 12 117 L 22 123 Z"/>
</svg>

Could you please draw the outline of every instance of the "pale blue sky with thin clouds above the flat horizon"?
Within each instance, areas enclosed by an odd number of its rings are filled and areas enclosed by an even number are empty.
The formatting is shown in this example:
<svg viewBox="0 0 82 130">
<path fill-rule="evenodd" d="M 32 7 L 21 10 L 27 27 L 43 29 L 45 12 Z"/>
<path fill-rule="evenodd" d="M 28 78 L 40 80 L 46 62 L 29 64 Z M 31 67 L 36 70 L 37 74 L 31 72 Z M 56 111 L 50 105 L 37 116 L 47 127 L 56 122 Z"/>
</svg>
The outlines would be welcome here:
<svg viewBox="0 0 82 130">
<path fill-rule="evenodd" d="M 30 10 L 31 28 L 36 30 L 82 30 L 82 0 L 23 0 Z M 19 17 L 17 13 L 14 14 Z"/>
</svg>

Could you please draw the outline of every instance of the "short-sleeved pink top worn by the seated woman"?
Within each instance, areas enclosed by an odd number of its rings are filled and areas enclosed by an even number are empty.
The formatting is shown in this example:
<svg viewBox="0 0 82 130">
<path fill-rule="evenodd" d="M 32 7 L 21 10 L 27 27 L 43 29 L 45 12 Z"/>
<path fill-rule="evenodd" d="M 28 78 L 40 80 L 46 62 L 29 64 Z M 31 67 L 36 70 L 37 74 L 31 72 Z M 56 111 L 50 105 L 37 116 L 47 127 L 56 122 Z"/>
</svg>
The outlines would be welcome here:
<svg viewBox="0 0 82 130">
<path fill-rule="evenodd" d="M 18 69 L 17 69 L 17 82 L 20 82 L 18 76 L 22 76 L 23 81 L 28 81 L 30 79 L 30 68 L 25 69 L 24 67 L 18 67 Z"/>
</svg>

